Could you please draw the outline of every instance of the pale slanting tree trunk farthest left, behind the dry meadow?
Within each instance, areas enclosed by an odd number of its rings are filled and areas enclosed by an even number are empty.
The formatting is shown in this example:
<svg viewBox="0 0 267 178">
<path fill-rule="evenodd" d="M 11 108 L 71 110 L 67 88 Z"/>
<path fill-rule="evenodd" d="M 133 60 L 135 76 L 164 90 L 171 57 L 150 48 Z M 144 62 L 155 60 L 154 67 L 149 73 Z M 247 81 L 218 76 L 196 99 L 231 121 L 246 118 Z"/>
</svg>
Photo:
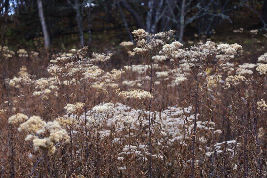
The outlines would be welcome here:
<svg viewBox="0 0 267 178">
<path fill-rule="evenodd" d="M 38 4 L 39 18 L 40 18 L 40 22 L 42 25 L 42 30 L 43 30 L 44 40 L 45 40 L 45 48 L 48 49 L 50 46 L 50 40 L 49 40 L 48 31 L 47 31 L 42 0 L 37 0 L 37 4 Z"/>
</svg>

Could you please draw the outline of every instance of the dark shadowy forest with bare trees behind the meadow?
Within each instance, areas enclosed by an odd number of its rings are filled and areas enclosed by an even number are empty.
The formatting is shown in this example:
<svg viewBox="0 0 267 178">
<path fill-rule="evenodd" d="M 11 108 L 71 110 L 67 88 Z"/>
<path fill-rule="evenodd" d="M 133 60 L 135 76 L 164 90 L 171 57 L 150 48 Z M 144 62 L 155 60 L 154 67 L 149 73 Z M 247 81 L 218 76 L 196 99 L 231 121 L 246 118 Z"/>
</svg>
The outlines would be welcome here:
<svg viewBox="0 0 267 178">
<path fill-rule="evenodd" d="M 0 0 L 0 45 L 13 50 L 102 51 L 133 41 L 138 28 L 174 29 L 184 43 L 231 42 L 234 29 L 266 33 L 267 0 Z"/>
</svg>

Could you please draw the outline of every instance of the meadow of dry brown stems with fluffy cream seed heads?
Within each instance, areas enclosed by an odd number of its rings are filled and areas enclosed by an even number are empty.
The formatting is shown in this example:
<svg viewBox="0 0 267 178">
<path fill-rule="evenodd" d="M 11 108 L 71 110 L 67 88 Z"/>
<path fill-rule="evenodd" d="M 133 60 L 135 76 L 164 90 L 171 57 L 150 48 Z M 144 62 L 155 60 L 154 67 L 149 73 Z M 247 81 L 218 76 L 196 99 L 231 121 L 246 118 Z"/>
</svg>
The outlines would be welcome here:
<svg viewBox="0 0 267 178">
<path fill-rule="evenodd" d="M 264 178 L 267 53 L 132 32 L 128 65 L 87 47 L 0 47 L 0 178 Z M 47 70 L 44 71 L 44 70 Z M 30 72 L 34 71 L 34 72 Z"/>
</svg>

